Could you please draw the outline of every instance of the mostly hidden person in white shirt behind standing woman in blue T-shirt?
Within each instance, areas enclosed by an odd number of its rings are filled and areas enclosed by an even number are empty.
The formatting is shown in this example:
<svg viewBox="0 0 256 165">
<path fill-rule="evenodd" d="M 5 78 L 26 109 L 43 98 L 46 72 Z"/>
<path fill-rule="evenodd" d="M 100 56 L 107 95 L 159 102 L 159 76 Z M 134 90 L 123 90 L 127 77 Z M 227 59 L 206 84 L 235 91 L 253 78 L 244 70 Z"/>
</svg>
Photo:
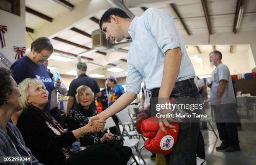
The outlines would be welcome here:
<svg viewBox="0 0 256 165">
<path fill-rule="evenodd" d="M 56 76 L 56 70 L 49 70 L 47 69 L 48 66 L 48 59 L 44 61 L 44 66 L 51 77 L 51 80 L 54 82 L 54 78 Z M 64 122 L 63 117 L 61 116 L 60 110 L 58 108 L 58 93 L 61 95 L 65 95 L 67 93 L 67 87 L 64 85 L 61 75 L 58 76 L 58 81 L 56 84 L 59 85 L 58 88 L 53 88 L 51 91 L 51 103 L 50 103 L 50 114 L 61 124 L 62 127 L 66 128 L 66 124 Z"/>
</svg>

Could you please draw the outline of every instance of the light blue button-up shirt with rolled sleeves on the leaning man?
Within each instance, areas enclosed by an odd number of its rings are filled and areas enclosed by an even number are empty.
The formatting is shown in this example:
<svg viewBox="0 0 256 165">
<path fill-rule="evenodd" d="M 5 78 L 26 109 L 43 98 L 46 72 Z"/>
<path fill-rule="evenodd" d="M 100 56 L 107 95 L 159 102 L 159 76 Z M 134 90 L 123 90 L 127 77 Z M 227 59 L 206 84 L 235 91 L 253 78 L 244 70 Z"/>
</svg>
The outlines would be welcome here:
<svg viewBox="0 0 256 165">
<path fill-rule="evenodd" d="M 195 77 L 186 46 L 175 28 L 172 17 L 156 8 L 149 8 L 141 17 L 133 18 L 128 30 L 131 39 L 127 57 L 126 91 L 138 94 L 143 77 L 147 90 L 161 86 L 165 52 L 179 47 L 182 60 L 176 81 Z"/>
</svg>

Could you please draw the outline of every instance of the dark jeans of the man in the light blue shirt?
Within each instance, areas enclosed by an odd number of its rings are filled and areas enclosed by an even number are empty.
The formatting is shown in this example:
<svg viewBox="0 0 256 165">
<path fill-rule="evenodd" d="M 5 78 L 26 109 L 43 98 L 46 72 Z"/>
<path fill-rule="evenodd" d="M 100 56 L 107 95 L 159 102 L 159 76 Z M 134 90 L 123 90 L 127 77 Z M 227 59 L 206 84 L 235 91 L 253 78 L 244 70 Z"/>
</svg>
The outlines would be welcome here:
<svg viewBox="0 0 256 165">
<path fill-rule="evenodd" d="M 198 95 L 199 92 L 195 83 L 191 83 L 189 85 L 174 88 L 170 97 L 198 97 Z M 188 113 L 192 114 L 192 111 L 189 110 Z M 167 165 L 196 165 L 197 136 L 199 128 L 199 122 L 179 123 L 177 143 L 173 147 L 172 153 L 165 156 Z"/>
</svg>

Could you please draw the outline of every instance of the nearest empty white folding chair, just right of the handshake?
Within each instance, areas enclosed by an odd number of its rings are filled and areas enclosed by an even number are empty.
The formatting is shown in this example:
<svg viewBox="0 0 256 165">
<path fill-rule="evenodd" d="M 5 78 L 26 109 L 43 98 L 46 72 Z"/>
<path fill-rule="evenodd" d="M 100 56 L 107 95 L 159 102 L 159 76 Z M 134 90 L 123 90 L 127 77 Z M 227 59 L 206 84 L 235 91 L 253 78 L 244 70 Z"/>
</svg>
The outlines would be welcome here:
<svg viewBox="0 0 256 165">
<path fill-rule="evenodd" d="M 112 117 L 109 117 L 107 120 L 106 120 L 106 123 L 105 123 L 105 128 L 111 128 L 111 127 L 115 127 L 115 129 L 118 131 L 118 133 L 121 135 L 117 125 L 115 125 L 115 122 L 114 120 L 112 119 Z M 121 135 L 121 138 L 123 139 L 123 145 L 124 146 L 127 146 L 127 147 L 130 147 L 130 148 L 135 148 L 136 152 L 138 153 L 139 157 L 141 158 L 141 160 L 143 161 L 144 164 L 146 164 L 145 160 L 143 159 L 141 153 L 138 151 L 138 148 L 137 148 L 137 144 L 139 143 L 139 140 L 138 139 L 128 139 L 128 140 L 124 140 L 123 136 Z M 131 154 L 134 162 L 133 163 L 136 163 L 136 165 L 139 165 L 138 161 L 136 160 L 135 156 L 133 155 L 133 153 Z M 132 164 L 133 164 L 132 163 Z"/>
</svg>

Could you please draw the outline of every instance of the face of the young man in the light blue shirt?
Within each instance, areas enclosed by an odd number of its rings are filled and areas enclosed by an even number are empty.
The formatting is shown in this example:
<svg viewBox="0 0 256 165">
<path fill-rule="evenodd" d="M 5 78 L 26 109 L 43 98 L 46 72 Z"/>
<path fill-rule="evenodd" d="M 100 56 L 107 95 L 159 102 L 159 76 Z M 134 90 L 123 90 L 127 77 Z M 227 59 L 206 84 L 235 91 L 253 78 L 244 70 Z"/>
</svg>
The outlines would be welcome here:
<svg viewBox="0 0 256 165">
<path fill-rule="evenodd" d="M 102 23 L 102 31 L 105 32 L 107 40 L 120 42 L 123 40 L 123 35 L 115 15 L 110 16 L 110 23 Z"/>
</svg>

